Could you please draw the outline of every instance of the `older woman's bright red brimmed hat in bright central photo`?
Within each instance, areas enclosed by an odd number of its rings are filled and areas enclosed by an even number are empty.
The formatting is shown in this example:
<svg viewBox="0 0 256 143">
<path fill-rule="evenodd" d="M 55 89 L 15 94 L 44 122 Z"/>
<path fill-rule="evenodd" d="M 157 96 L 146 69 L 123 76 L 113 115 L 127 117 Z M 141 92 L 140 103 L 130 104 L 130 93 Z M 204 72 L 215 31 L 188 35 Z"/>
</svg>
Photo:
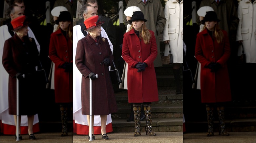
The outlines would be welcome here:
<svg viewBox="0 0 256 143">
<path fill-rule="evenodd" d="M 99 21 L 99 16 L 98 15 L 92 16 L 92 17 L 90 17 L 90 18 L 88 18 L 84 21 L 84 25 L 86 27 L 84 29 L 84 31 L 91 30 L 95 27 L 98 27 L 98 26 L 104 24 L 104 23 L 105 23 L 105 21 L 102 21 L 102 22 Z"/>
</svg>

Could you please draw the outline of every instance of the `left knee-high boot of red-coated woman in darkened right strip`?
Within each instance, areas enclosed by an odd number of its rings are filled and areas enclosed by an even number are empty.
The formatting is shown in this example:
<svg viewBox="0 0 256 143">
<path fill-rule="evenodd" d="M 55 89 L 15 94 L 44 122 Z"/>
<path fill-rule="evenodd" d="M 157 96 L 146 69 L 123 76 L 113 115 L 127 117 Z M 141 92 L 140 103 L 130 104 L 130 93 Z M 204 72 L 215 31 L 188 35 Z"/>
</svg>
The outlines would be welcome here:
<svg viewBox="0 0 256 143">
<path fill-rule="evenodd" d="M 207 121 L 208 121 L 208 132 L 207 136 L 213 136 L 213 107 L 206 105 Z"/>
</svg>

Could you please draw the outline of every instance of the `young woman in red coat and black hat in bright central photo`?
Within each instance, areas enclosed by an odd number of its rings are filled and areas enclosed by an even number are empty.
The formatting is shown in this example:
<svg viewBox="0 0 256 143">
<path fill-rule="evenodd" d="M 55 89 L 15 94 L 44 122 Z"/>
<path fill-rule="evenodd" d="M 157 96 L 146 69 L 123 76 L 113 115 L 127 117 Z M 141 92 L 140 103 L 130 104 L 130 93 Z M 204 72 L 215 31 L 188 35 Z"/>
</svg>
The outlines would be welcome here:
<svg viewBox="0 0 256 143">
<path fill-rule="evenodd" d="M 129 20 L 132 26 L 124 34 L 122 57 L 128 63 L 128 102 L 133 103 L 135 132 L 139 136 L 141 104 L 146 115 L 146 135 L 156 135 L 152 131 L 151 102 L 158 101 L 157 78 L 154 60 L 157 57 L 157 43 L 154 32 L 146 28 L 144 14 L 134 11 Z"/>
</svg>

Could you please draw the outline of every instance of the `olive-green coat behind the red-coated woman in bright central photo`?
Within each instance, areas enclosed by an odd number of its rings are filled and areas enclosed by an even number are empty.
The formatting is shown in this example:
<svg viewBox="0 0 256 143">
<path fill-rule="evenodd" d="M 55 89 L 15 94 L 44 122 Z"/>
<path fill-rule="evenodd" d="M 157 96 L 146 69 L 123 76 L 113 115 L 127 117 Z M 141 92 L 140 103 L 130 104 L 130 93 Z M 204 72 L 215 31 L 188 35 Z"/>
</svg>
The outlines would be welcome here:
<svg viewBox="0 0 256 143">
<path fill-rule="evenodd" d="M 146 4 L 142 0 L 129 0 L 126 8 L 136 6 L 143 12 L 144 18 L 148 20 L 146 22 L 147 29 L 152 30 L 155 33 L 157 41 L 157 58 L 154 60 L 155 67 L 161 67 L 162 61 L 160 56 L 160 40 L 159 34 L 162 33 L 166 18 L 164 17 L 163 6 L 160 0 L 147 0 Z M 125 17 L 126 18 L 126 17 Z M 125 26 L 129 24 L 125 19 Z"/>
</svg>

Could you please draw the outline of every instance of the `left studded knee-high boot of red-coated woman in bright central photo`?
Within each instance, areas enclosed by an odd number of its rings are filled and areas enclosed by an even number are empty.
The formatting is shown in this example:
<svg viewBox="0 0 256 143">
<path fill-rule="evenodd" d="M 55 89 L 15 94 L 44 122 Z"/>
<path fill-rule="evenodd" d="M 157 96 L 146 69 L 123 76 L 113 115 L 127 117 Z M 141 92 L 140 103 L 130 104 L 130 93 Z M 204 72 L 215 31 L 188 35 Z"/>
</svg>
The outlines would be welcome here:
<svg viewBox="0 0 256 143">
<path fill-rule="evenodd" d="M 141 104 L 133 104 L 133 113 L 134 113 L 134 121 L 135 121 L 135 132 L 134 136 L 139 136 L 141 127 L 140 127 L 140 108 Z"/>
</svg>

